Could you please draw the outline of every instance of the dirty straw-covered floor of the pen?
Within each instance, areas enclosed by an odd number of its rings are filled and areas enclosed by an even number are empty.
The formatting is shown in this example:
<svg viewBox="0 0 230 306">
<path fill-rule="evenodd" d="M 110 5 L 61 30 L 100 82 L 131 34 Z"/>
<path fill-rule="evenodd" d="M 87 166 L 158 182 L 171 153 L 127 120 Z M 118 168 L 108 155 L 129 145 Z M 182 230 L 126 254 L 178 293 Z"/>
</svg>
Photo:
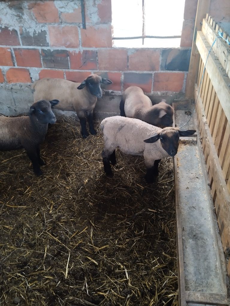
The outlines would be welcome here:
<svg viewBox="0 0 230 306">
<path fill-rule="evenodd" d="M 106 177 L 102 148 L 59 120 L 44 176 L 0 152 L 0 305 L 177 305 L 172 159 L 149 185 L 143 157 L 119 151 Z"/>
</svg>

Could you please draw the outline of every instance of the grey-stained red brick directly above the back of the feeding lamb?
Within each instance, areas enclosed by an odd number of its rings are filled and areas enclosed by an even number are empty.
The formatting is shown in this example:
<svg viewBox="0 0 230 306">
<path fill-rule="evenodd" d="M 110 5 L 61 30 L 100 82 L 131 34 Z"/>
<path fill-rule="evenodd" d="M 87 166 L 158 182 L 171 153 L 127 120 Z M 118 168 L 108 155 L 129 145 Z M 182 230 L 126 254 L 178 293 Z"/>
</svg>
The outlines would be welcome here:
<svg viewBox="0 0 230 306">
<path fill-rule="evenodd" d="M 151 92 L 152 73 L 124 73 L 124 90 L 129 86 L 139 86 L 144 92 Z"/>
</svg>

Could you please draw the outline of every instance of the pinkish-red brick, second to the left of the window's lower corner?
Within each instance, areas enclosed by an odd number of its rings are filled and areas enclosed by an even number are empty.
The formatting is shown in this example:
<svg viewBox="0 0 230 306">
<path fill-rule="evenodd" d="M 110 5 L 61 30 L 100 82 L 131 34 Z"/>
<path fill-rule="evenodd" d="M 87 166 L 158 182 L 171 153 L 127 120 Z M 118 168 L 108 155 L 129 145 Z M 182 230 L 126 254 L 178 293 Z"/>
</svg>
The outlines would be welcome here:
<svg viewBox="0 0 230 306">
<path fill-rule="evenodd" d="M 78 27 L 75 25 L 66 25 L 64 27 L 49 25 L 49 40 L 53 47 L 78 48 L 79 35 Z"/>
</svg>

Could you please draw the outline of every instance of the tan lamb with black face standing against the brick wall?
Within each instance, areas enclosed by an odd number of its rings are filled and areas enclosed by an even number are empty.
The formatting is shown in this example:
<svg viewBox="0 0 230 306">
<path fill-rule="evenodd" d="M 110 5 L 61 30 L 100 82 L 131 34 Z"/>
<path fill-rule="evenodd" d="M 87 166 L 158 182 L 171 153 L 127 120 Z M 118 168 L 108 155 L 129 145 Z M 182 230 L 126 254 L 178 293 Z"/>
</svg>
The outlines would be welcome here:
<svg viewBox="0 0 230 306">
<path fill-rule="evenodd" d="M 75 110 L 80 120 L 82 138 L 86 138 L 89 136 L 86 118 L 89 123 L 89 132 L 92 135 L 97 134 L 93 126 L 93 109 L 97 98 L 102 97 L 101 83 L 111 84 L 112 82 L 97 74 L 89 75 L 82 83 L 44 78 L 33 84 L 34 101 L 59 99 L 57 109 Z"/>
</svg>

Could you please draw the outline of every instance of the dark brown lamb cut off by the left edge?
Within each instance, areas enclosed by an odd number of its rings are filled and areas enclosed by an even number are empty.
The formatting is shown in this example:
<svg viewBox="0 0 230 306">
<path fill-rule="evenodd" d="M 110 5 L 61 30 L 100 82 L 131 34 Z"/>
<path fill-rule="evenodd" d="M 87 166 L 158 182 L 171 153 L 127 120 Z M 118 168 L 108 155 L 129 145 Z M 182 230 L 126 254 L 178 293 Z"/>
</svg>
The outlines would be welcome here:
<svg viewBox="0 0 230 306">
<path fill-rule="evenodd" d="M 0 150 L 24 148 L 37 175 L 43 174 L 40 166 L 45 165 L 40 157 L 39 145 L 46 136 L 48 123 L 56 122 L 51 106 L 57 103 L 58 100 L 41 100 L 30 107 L 29 116 L 0 117 Z"/>
</svg>

